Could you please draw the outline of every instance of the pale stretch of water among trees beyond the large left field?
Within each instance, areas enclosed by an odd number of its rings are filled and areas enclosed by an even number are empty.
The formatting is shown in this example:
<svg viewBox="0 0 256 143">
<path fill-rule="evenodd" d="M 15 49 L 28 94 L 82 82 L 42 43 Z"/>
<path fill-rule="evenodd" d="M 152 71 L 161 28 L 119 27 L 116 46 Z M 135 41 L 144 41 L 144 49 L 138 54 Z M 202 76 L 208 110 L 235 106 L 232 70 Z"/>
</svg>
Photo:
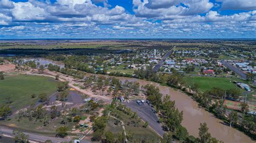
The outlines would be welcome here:
<svg viewBox="0 0 256 143">
<path fill-rule="evenodd" d="M 63 62 L 58 62 L 58 61 L 53 61 L 53 60 L 49 60 L 49 59 L 44 59 L 44 58 L 26 58 L 26 59 L 23 59 L 24 60 L 24 62 L 26 62 L 26 61 L 36 61 L 36 64 L 38 63 L 39 64 L 39 66 L 41 66 L 41 65 L 43 65 L 43 66 L 45 66 L 45 65 L 49 65 L 50 63 L 52 64 L 52 65 L 57 65 L 57 66 L 59 66 L 60 68 L 64 68 L 65 67 L 65 64 L 63 63 Z"/>
</svg>

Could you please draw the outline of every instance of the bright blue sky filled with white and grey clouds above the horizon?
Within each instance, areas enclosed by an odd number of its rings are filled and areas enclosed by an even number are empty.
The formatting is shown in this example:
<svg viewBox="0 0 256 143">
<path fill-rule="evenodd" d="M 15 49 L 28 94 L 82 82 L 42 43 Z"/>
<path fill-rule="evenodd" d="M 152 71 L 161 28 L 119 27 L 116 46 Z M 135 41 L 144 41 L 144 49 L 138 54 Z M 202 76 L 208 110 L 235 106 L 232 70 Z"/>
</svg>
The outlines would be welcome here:
<svg viewBox="0 0 256 143">
<path fill-rule="evenodd" d="M 256 38 L 256 0 L 0 0 L 8 38 Z"/>
</svg>

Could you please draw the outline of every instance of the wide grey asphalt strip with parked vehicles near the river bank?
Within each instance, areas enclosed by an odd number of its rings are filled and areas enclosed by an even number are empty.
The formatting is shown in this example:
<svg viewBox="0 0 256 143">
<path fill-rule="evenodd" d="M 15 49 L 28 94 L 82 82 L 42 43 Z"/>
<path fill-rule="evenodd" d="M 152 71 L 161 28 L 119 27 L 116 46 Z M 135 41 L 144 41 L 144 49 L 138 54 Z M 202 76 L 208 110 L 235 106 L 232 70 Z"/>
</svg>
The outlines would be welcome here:
<svg viewBox="0 0 256 143">
<path fill-rule="evenodd" d="M 159 123 L 157 123 L 158 117 L 156 113 L 152 111 L 153 108 L 150 105 L 146 103 L 144 105 L 138 105 L 136 103 L 136 100 L 130 101 L 130 103 L 125 102 L 124 104 L 127 106 L 127 108 L 130 108 L 133 112 L 137 112 L 137 115 L 140 118 L 142 118 L 144 121 L 148 121 L 150 127 L 152 127 L 154 131 L 156 131 L 159 135 L 161 135 L 161 137 L 163 137 L 164 135 L 163 128 Z"/>
</svg>

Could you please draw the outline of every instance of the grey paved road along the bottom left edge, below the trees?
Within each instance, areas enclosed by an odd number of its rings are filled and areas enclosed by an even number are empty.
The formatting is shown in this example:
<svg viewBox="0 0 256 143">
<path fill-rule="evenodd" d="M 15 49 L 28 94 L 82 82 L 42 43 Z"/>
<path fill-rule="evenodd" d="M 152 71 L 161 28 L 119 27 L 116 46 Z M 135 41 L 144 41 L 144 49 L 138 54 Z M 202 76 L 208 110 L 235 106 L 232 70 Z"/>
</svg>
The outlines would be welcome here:
<svg viewBox="0 0 256 143">
<path fill-rule="evenodd" d="M 11 128 L 0 127 L 0 131 L 2 131 L 3 134 L 12 136 L 12 131 L 13 130 Z M 28 133 L 28 132 L 24 132 L 24 133 L 29 135 L 29 140 L 32 140 L 32 141 L 44 142 L 48 139 L 50 139 L 52 142 L 67 142 L 67 141 L 70 141 L 70 139 L 46 137 L 46 136 L 41 135 L 41 134 L 39 135 L 39 134 Z"/>
</svg>

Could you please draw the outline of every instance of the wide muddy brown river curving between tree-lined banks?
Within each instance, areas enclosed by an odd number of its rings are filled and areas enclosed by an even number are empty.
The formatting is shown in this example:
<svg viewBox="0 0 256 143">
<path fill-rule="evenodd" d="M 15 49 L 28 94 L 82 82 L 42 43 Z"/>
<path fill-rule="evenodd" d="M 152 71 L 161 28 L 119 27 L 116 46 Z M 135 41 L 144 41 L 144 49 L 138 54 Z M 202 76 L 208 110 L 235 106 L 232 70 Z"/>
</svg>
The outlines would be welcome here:
<svg viewBox="0 0 256 143">
<path fill-rule="evenodd" d="M 88 74 L 90 75 L 90 74 Z M 212 113 L 205 111 L 198 106 L 196 101 L 193 101 L 191 97 L 180 92 L 173 90 L 173 88 L 162 86 L 158 83 L 139 80 L 129 77 L 117 77 L 120 81 L 125 80 L 139 82 L 140 86 L 146 84 L 153 84 L 160 89 L 161 94 L 170 95 L 171 100 L 175 101 L 179 111 L 183 111 L 183 121 L 181 125 L 187 128 L 188 133 L 198 137 L 198 128 L 200 123 L 206 123 L 212 137 L 224 141 L 224 142 L 254 142 L 244 133 L 232 128 L 228 125 L 224 125 L 224 122 L 218 118 L 215 118 Z"/>
</svg>

